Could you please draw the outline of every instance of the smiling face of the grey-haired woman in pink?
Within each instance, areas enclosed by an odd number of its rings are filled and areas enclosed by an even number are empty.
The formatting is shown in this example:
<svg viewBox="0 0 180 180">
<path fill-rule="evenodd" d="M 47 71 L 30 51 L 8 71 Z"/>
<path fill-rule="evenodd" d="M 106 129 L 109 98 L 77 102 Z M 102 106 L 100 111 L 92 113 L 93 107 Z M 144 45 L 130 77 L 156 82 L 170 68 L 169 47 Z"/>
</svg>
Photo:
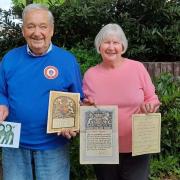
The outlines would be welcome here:
<svg viewBox="0 0 180 180">
<path fill-rule="evenodd" d="M 123 46 L 116 35 L 105 38 L 99 47 L 103 61 L 111 62 L 121 58 Z"/>
</svg>

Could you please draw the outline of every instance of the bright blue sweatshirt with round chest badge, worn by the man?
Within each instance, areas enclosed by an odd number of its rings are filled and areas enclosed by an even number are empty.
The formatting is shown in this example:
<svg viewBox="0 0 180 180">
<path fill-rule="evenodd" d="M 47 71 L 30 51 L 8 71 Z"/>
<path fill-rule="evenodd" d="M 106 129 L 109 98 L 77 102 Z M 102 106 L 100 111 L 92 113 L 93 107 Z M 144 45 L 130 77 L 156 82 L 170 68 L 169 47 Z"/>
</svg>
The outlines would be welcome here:
<svg viewBox="0 0 180 180">
<path fill-rule="evenodd" d="M 52 45 L 43 56 L 31 56 L 26 45 L 9 51 L 0 66 L 0 104 L 9 107 L 7 121 L 21 123 L 20 146 L 51 149 L 67 142 L 47 134 L 49 92 L 82 94 L 82 79 L 76 58 Z"/>
</svg>

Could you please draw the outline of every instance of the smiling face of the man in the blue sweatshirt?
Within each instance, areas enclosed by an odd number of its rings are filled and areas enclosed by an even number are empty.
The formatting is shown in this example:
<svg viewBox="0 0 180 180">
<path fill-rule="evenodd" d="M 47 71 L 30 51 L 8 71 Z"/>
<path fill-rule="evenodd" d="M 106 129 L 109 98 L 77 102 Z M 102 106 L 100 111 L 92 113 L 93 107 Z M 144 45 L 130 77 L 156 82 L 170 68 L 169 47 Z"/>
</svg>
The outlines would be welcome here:
<svg viewBox="0 0 180 180">
<path fill-rule="evenodd" d="M 29 11 L 22 27 L 22 33 L 31 51 L 36 55 L 46 52 L 51 43 L 54 25 L 45 10 Z"/>
</svg>

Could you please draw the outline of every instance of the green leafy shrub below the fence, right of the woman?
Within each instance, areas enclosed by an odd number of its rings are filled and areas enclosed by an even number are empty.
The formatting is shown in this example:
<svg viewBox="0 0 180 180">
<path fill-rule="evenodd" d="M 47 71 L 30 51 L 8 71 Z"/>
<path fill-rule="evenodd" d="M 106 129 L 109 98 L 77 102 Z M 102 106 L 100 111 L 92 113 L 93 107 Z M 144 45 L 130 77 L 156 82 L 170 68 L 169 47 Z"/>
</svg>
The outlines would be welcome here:
<svg viewBox="0 0 180 180">
<path fill-rule="evenodd" d="M 150 179 L 180 178 L 180 81 L 169 73 L 155 79 L 162 103 L 161 153 L 152 157 Z"/>
</svg>

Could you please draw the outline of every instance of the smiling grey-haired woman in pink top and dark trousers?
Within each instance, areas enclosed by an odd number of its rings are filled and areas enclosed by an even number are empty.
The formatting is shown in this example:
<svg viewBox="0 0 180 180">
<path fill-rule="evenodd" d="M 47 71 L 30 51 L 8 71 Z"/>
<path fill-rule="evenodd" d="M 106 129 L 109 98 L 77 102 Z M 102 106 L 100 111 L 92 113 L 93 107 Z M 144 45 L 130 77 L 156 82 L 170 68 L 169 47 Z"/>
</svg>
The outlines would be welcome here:
<svg viewBox="0 0 180 180">
<path fill-rule="evenodd" d="M 132 157 L 131 116 L 153 113 L 159 100 L 142 63 L 123 57 L 128 42 L 118 24 L 107 24 L 95 38 L 102 62 L 84 75 L 85 102 L 118 106 L 119 165 L 94 165 L 98 180 L 146 180 L 149 155 Z"/>
</svg>

